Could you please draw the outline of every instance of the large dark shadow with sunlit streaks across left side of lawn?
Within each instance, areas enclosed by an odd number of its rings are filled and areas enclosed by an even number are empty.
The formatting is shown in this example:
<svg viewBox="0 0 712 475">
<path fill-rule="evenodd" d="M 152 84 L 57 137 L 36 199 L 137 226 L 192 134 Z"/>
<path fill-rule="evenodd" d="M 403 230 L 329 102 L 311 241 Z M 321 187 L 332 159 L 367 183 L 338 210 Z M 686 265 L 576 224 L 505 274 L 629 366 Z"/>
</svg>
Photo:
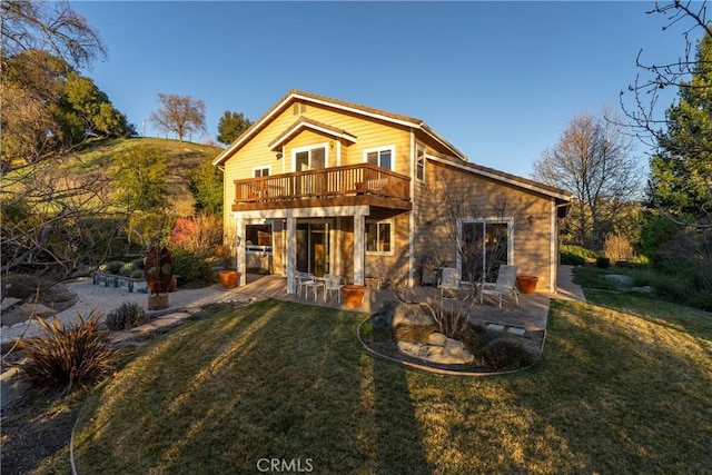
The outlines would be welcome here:
<svg viewBox="0 0 712 475">
<path fill-rule="evenodd" d="M 187 324 L 95 392 L 79 472 L 429 473 L 405 369 L 365 354 L 362 318 L 267 300 Z"/>
</svg>

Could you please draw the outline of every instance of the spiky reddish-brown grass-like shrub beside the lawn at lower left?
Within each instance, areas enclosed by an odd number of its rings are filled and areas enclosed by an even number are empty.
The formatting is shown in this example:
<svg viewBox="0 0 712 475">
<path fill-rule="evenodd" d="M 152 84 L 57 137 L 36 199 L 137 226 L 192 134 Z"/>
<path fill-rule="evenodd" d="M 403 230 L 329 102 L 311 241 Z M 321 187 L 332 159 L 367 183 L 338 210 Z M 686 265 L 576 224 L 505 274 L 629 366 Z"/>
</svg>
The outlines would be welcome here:
<svg viewBox="0 0 712 475">
<path fill-rule="evenodd" d="M 58 319 L 38 319 L 43 334 L 20 339 L 17 348 L 24 352 L 21 368 L 39 392 L 60 389 L 69 393 L 75 385 L 85 385 L 109 375 L 118 360 L 109 333 L 99 330 L 100 314 L 91 311 L 88 319 L 79 316 L 75 326 L 63 328 Z"/>
</svg>

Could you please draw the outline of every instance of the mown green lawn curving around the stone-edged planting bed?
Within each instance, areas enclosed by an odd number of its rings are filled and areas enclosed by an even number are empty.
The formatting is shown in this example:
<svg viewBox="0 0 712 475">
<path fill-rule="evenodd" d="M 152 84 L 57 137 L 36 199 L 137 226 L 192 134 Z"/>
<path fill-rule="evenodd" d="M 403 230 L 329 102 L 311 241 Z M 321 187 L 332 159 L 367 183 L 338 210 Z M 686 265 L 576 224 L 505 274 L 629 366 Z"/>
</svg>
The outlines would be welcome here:
<svg viewBox="0 0 712 475">
<path fill-rule="evenodd" d="M 218 307 L 92 392 L 77 468 L 257 473 L 278 458 L 314 473 L 709 472 L 709 314 L 603 299 L 553 301 L 534 369 L 487 378 L 370 356 L 363 315 Z"/>
</svg>

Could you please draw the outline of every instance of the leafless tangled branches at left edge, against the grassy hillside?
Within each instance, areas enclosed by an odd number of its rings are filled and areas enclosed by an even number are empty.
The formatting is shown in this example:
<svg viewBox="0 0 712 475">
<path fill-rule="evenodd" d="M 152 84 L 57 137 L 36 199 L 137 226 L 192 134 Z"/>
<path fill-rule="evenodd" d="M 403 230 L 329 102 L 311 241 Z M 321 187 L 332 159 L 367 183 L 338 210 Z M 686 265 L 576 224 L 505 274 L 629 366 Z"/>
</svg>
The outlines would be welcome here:
<svg viewBox="0 0 712 475">
<path fill-rule="evenodd" d="M 100 170 L 72 171 L 78 156 L 41 161 L 2 180 L 0 271 L 24 269 L 76 274 L 113 251 L 127 215 L 116 211 L 112 177 Z"/>
</svg>

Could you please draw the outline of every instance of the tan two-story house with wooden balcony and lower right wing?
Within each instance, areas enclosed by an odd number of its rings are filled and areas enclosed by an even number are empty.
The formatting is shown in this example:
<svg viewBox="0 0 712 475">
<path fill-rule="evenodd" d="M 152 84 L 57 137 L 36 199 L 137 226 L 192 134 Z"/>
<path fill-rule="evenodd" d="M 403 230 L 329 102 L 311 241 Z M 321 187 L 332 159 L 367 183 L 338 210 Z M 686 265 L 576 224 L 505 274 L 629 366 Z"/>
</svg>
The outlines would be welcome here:
<svg viewBox="0 0 712 475">
<path fill-rule="evenodd" d="M 293 90 L 214 165 L 243 284 L 255 258 L 290 293 L 296 271 L 415 285 L 429 261 L 476 280 L 516 265 L 555 291 L 571 194 L 471 164 L 419 119 Z"/>
</svg>

